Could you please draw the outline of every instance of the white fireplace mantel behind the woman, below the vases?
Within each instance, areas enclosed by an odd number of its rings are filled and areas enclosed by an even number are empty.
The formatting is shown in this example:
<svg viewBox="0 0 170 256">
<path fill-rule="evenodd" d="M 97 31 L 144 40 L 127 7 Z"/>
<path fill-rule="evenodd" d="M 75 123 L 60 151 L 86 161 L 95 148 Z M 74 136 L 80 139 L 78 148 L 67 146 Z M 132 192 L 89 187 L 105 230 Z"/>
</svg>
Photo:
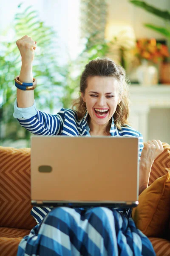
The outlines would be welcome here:
<svg viewBox="0 0 170 256">
<path fill-rule="evenodd" d="M 140 131 L 144 141 L 149 138 L 149 113 L 151 109 L 170 110 L 170 85 L 130 85 L 130 116 L 129 121 L 133 128 Z M 169 112 L 170 113 L 170 112 Z M 163 114 L 163 112 L 162 112 Z M 158 118 L 161 121 L 161 118 Z M 170 115 L 167 116 L 170 120 Z M 153 129 L 156 129 L 154 126 Z M 170 130 L 170 129 L 169 129 Z M 158 131 L 161 133 L 162 131 Z M 170 132 L 166 136 L 167 143 L 170 143 Z"/>
</svg>

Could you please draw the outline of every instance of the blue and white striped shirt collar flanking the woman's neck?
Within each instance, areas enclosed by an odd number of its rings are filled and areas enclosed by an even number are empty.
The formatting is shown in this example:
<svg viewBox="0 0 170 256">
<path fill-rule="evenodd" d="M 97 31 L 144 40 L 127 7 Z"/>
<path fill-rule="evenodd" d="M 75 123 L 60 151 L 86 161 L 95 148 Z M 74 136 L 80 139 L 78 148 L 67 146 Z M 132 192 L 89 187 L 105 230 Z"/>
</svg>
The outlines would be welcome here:
<svg viewBox="0 0 170 256">
<path fill-rule="evenodd" d="M 86 111 L 85 116 L 80 121 L 80 125 L 81 125 L 81 130 L 79 131 L 80 136 L 88 136 L 88 132 L 87 132 L 87 128 L 86 128 L 87 122 L 88 122 L 88 111 Z M 118 129 L 117 129 L 116 125 L 114 124 L 113 116 L 112 116 L 112 124 L 111 124 L 110 134 L 111 134 L 111 136 L 119 136 Z"/>
</svg>

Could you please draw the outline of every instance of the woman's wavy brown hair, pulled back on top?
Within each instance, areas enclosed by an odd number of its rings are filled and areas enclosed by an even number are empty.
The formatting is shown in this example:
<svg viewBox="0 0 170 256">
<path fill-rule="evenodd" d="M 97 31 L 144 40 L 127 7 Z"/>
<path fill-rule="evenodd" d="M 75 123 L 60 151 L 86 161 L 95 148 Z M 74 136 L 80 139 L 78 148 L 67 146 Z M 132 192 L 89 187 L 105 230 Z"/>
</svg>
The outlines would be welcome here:
<svg viewBox="0 0 170 256">
<path fill-rule="evenodd" d="M 129 125 L 127 121 L 129 116 L 129 80 L 126 77 L 124 68 L 116 64 L 110 58 L 97 57 L 86 64 L 85 70 L 82 72 L 80 78 L 80 96 L 78 99 L 74 100 L 72 104 L 72 108 L 77 111 L 78 118 L 82 119 L 85 116 L 86 111 L 86 104 L 85 102 L 83 104 L 81 93 L 85 94 L 85 89 L 88 86 L 88 78 L 94 76 L 108 76 L 117 79 L 119 82 L 119 96 L 122 100 L 120 104 L 117 105 L 116 111 L 113 114 L 114 124 L 118 129 L 121 129 L 121 126 Z"/>
</svg>

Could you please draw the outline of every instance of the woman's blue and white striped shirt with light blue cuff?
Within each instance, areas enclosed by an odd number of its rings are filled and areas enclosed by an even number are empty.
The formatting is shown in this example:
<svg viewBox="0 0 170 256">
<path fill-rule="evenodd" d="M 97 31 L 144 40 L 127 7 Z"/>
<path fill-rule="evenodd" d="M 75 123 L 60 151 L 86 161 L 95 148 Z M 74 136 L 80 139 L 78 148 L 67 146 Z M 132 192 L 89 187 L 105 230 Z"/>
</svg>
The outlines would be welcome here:
<svg viewBox="0 0 170 256">
<path fill-rule="evenodd" d="M 62 108 L 56 115 L 51 115 L 38 111 L 34 100 L 34 105 L 29 108 L 18 108 L 17 99 L 14 103 L 13 116 L 17 118 L 20 125 L 35 135 L 65 135 L 65 136 L 90 136 L 90 128 L 88 126 L 88 112 L 85 113 L 84 118 L 78 120 L 77 112 L 68 108 Z M 111 137 L 138 137 L 139 138 L 139 160 L 143 149 L 143 137 L 139 131 L 136 131 L 129 125 L 124 125 L 119 130 L 114 124 L 110 129 Z M 31 215 L 40 223 L 42 218 L 51 210 L 48 207 L 33 207 Z M 122 212 L 123 210 L 120 209 Z M 126 215 L 130 211 L 126 209 Z M 125 211 L 125 210 L 124 210 Z"/>
</svg>

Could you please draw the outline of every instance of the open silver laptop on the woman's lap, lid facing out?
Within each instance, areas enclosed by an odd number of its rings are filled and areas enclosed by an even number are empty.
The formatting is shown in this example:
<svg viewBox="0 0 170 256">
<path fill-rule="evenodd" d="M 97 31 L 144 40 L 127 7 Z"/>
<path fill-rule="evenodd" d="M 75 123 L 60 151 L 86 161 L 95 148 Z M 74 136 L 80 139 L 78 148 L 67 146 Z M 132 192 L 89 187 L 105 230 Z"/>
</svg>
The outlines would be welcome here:
<svg viewBox="0 0 170 256">
<path fill-rule="evenodd" d="M 31 137 L 31 204 L 135 207 L 138 138 Z"/>
</svg>

